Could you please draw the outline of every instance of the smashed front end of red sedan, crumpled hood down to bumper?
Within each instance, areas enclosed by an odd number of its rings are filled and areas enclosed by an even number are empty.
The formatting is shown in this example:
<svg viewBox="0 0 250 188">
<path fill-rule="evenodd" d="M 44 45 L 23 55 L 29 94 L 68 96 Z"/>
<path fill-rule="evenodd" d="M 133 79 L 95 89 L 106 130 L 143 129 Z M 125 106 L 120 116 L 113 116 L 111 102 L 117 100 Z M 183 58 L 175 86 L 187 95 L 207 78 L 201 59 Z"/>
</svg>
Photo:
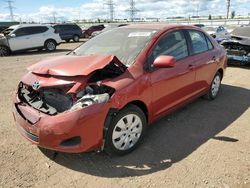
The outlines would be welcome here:
<svg viewBox="0 0 250 188">
<path fill-rule="evenodd" d="M 115 93 L 104 82 L 122 75 L 126 66 L 115 56 L 56 60 L 33 65 L 22 78 L 13 111 L 19 132 L 30 142 L 57 151 L 101 148 Z"/>
</svg>

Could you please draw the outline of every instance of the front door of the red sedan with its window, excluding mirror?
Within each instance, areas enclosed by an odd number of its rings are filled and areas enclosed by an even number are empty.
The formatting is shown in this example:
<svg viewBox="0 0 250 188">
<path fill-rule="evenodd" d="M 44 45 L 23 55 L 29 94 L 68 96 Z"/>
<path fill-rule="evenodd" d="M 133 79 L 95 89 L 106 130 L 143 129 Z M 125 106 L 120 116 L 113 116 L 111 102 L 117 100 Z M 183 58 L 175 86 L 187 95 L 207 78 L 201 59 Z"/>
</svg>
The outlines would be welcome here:
<svg viewBox="0 0 250 188">
<path fill-rule="evenodd" d="M 154 116 L 158 117 L 194 93 L 195 64 L 189 57 L 188 42 L 182 30 L 172 31 L 161 37 L 155 45 L 150 62 L 160 55 L 177 59 L 173 68 L 159 68 L 150 74 Z"/>
</svg>

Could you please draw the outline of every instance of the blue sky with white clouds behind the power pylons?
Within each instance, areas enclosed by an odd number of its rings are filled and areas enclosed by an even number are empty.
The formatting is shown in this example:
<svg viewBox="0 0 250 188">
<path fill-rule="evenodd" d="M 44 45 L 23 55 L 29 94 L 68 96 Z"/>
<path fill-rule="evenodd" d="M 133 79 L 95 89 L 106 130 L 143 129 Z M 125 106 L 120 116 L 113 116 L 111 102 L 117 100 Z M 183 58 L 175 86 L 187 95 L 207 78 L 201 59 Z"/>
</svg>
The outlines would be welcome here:
<svg viewBox="0 0 250 188">
<path fill-rule="evenodd" d="M 107 1 L 106 1 L 107 2 Z M 129 0 L 114 0 L 114 17 L 129 18 Z M 135 0 L 138 18 L 166 18 L 171 16 L 200 16 L 226 14 L 227 0 Z M 106 19 L 109 18 L 105 0 L 14 0 L 15 19 L 23 21 L 53 21 L 53 13 L 58 20 Z M 7 3 L 0 0 L 0 21 L 10 20 Z M 231 0 L 231 10 L 236 15 L 250 13 L 250 0 Z"/>
</svg>

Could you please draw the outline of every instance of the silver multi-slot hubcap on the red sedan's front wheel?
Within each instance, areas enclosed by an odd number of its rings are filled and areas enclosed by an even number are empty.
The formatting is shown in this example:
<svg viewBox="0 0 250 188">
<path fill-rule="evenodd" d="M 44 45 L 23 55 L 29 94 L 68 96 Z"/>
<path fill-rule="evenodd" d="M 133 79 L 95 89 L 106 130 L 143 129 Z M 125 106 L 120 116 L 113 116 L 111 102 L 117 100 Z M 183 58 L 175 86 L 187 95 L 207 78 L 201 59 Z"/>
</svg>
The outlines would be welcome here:
<svg viewBox="0 0 250 188">
<path fill-rule="evenodd" d="M 112 142 L 118 150 L 128 150 L 139 140 L 142 133 L 142 121 L 136 114 L 128 114 L 121 118 L 112 134 Z"/>
</svg>

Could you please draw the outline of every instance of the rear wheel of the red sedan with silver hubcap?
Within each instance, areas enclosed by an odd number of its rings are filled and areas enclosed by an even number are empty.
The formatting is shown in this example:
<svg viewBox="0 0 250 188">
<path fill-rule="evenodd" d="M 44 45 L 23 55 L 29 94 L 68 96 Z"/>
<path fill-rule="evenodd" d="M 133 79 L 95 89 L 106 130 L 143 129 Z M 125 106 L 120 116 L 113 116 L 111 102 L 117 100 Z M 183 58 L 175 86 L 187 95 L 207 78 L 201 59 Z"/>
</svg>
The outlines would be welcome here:
<svg viewBox="0 0 250 188">
<path fill-rule="evenodd" d="M 221 86 L 221 80 L 222 80 L 222 75 L 221 73 L 217 72 L 213 78 L 210 89 L 208 93 L 204 95 L 204 98 L 208 100 L 214 100 L 218 96 Z"/>
</svg>

